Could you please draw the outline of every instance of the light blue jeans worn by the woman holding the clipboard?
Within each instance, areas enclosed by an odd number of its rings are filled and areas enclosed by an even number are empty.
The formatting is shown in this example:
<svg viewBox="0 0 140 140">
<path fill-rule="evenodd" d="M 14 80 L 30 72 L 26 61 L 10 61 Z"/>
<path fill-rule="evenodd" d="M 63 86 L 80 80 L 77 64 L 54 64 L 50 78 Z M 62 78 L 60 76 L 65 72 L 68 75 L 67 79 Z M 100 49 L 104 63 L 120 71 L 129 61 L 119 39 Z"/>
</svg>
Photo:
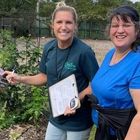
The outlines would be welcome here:
<svg viewBox="0 0 140 140">
<path fill-rule="evenodd" d="M 45 140 L 88 140 L 91 128 L 83 131 L 65 131 L 48 123 Z"/>
</svg>

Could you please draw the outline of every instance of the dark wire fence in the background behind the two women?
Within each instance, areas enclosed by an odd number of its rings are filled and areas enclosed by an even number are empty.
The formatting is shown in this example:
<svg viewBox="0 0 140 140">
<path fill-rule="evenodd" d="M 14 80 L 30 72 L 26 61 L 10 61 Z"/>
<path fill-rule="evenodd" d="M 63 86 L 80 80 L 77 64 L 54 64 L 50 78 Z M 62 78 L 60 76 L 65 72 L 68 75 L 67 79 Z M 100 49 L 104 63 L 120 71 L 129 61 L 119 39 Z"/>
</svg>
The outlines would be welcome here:
<svg viewBox="0 0 140 140">
<path fill-rule="evenodd" d="M 107 39 L 105 28 L 107 22 L 80 21 L 77 36 L 82 39 Z M 10 29 L 14 36 L 52 37 L 50 19 L 46 17 L 1 17 L 0 28 Z"/>
</svg>

